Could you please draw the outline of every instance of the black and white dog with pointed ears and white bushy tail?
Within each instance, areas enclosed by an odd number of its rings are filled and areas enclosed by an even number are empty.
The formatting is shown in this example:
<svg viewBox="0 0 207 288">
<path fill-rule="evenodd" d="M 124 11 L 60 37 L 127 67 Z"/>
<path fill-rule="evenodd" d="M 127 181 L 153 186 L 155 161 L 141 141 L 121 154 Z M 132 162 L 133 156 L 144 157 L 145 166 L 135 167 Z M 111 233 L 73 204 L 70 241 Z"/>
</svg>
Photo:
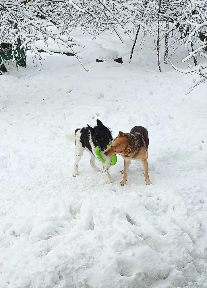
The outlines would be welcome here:
<svg viewBox="0 0 207 288">
<path fill-rule="evenodd" d="M 88 127 L 78 128 L 72 134 L 66 134 L 65 137 L 67 140 L 74 142 L 75 141 L 75 164 L 73 170 L 73 176 L 78 176 L 78 162 L 83 156 L 84 150 L 90 152 L 90 164 L 92 168 L 97 172 L 103 172 L 106 175 L 107 183 L 111 183 L 111 176 L 109 174 L 109 168 L 111 164 L 112 157 L 105 156 L 104 152 L 107 149 L 107 145 L 111 145 L 112 143 L 112 135 L 109 128 L 100 122 L 100 120 L 96 120 L 97 126 L 92 128 L 88 125 Z M 103 171 L 99 169 L 95 164 L 95 149 L 96 146 L 99 147 L 100 154 L 105 160 L 105 163 L 102 163 Z"/>
</svg>

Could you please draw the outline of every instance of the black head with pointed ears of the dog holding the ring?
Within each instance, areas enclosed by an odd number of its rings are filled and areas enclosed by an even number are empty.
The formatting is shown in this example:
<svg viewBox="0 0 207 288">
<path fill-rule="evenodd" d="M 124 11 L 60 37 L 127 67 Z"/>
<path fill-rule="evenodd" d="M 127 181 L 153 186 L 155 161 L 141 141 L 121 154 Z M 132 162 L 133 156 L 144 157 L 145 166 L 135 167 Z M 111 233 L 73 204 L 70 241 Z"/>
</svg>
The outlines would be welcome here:
<svg viewBox="0 0 207 288">
<path fill-rule="evenodd" d="M 94 146 L 98 146 L 100 151 L 104 151 L 107 149 L 107 145 L 111 145 L 113 138 L 109 128 L 102 124 L 102 122 L 100 122 L 98 119 L 96 122 L 97 126 L 92 128 L 90 125 L 88 125 L 88 128 L 90 129 Z"/>
</svg>

